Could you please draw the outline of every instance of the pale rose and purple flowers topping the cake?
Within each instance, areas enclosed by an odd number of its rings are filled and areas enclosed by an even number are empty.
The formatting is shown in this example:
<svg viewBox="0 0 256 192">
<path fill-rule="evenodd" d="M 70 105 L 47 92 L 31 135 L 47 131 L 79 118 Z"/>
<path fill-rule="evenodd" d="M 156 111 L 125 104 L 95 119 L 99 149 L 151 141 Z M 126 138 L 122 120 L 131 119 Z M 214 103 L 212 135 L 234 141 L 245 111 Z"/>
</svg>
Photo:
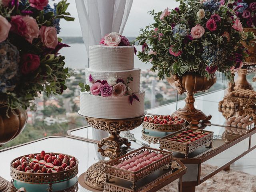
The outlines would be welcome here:
<svg viewBox="0 0 256 192">
<path fill-rule="evenodd" d="M 128 38 L 116 32 L 106 34 L 100 40 L 100 44 L 104 44 L 107 46 L 133 46 L 134 54 L 136 55 L 137 52 L 136 48 L 134 47 L 134 42 L 129 42 Z"/>
</svg>

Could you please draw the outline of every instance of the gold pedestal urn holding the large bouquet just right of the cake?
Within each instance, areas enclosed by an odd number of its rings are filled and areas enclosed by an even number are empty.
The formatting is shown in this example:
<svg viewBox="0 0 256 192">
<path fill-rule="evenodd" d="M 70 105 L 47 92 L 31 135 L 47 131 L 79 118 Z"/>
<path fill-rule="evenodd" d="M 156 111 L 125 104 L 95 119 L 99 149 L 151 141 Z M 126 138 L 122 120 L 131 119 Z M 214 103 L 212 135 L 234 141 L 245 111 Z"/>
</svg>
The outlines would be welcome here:
<svg viewBox="0 0 256 192">
<path fill-rule="evenodd" d="M 212 118 L 211 115 L 206 116 L 201 110 L 194 107 L 194 94 L 208 90 L 214 83 L 216 83 L 217 78 L 215 74 L 209 80 L 194 72 L 187 72 L 182 76 L 173 75 L 166 79 L 173 88 L 178 90 L 179 94 L 183 94 L 184 92 L 186 94 L 185 107 L 178 109 L 172 116 L 183 118 L 188 122 L 191 122 L 192 120 L 210 120 Z"/>
</svg>

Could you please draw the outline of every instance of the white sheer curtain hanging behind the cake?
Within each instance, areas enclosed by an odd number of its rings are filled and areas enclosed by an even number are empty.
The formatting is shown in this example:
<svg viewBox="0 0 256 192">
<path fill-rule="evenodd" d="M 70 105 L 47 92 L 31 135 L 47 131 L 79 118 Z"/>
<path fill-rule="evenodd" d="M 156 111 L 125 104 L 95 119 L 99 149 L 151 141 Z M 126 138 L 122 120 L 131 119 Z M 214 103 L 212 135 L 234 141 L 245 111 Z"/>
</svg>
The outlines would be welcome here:
<svg viewBox="0 0 256 192">
<path fill-rule="evenodd" d="M 100 39 L 110 33 L 122 34 L 133 0 L 76 0 L 82 36 L 89 55 L 89 46 L 97 45 Z M 92 129 L 94 140 L 107 137 L 108 133 Z M 104 157 L 98 154 L 100 160 Z"/>
</svg>

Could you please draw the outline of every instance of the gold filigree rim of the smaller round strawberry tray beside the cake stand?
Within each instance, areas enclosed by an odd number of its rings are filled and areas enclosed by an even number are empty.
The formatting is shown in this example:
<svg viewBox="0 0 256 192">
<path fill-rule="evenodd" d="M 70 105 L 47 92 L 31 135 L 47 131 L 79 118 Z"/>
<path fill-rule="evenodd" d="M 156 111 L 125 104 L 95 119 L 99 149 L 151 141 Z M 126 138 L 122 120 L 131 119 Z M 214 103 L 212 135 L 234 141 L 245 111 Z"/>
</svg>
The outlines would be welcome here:
<svg viewBox="0 0 256 192">
<path fill-rule="evenodd" d="M 149 117 L 154 117 L 153 116 L 148 116 Z M 179 118 L 179 120 L 184 120 L 182 118 Z M 181 124 L 173 124 L 173 125 L 162 125 L 162 124 L 154 124 L 154 123 L 150 123 L 150 122 L 146 122 L 144 121 L 142 123 L 142 127 L 146 128 L 146 129 L 151 129 L 154 131 L 162 131 L 162 132 L 174 132 L 174 131 L 178 131 L 181 130 L 183 128 L 186 127 L 186 120 L 184 120 L 183 123 Z"/>
</svg>

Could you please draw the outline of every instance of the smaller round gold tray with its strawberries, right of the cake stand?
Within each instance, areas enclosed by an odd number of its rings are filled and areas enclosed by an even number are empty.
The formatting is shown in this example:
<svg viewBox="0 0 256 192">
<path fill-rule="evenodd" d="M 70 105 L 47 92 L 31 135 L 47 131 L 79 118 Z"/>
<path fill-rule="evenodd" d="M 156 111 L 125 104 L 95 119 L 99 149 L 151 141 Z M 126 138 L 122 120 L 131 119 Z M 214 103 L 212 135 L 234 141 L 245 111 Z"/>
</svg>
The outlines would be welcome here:
<svg viewBox="0 0 256 192">
<path fill-rule="evenodd" d="M 173 132 L 186 126 L 186 120 L 170 115 L 152 115 L 146 116 L 142 127 L 155 131 Z"/>
</svg>

